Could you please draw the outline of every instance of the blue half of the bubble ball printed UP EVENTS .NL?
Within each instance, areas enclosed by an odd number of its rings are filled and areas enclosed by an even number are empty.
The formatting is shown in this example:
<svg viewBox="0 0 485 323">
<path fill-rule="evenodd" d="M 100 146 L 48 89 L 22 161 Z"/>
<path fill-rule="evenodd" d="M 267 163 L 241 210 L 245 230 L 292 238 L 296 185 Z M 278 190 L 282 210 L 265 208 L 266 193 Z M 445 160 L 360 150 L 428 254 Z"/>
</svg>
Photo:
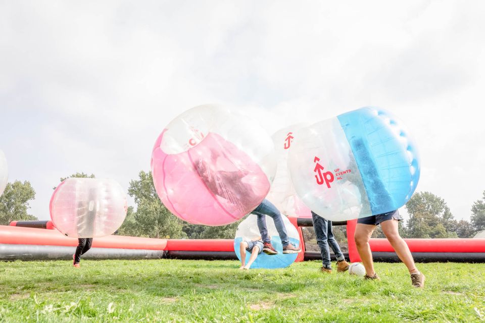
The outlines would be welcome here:
<svg viewBox="0 0 485 323">
<path fill-rule="evenodd" d="M 402 207 L 419 181 L 414 141 L 389 112 L 376 107 L 337 117 L 359 168 L 372 214 Z"/>
</svg>

